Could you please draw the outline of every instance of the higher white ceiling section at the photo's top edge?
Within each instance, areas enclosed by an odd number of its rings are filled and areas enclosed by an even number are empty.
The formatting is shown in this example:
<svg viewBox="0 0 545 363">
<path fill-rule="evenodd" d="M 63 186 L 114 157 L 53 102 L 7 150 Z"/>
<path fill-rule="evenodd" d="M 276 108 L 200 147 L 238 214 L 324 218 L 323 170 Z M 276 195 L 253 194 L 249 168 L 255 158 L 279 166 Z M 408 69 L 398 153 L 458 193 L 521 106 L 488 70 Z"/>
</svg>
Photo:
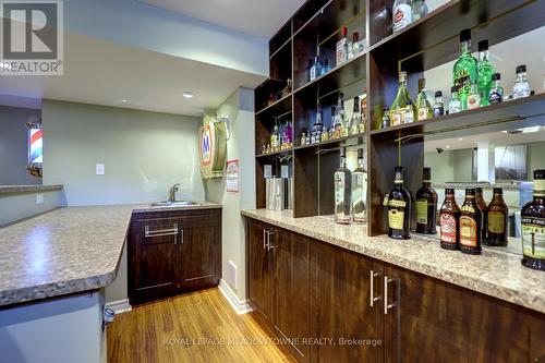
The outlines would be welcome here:
<svg viewBox="0 0 545 363">
<path fill-rule="evenodd" d="M 267 40 L 305 2 L 305 0 L 140 1 Z"/>
</svg>

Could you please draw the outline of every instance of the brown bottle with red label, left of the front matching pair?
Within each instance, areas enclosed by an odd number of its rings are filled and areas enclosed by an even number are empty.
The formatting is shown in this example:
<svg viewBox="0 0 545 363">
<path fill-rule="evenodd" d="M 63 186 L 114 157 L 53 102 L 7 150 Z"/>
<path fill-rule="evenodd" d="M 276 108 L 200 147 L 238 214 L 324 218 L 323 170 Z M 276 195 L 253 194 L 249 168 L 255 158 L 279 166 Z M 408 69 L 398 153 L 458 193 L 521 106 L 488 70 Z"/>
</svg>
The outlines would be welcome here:
<svg viewBox="0 0 545 363">
<path fill-rule="evenodd" d="M 445 190 L 445 202 L 439 214 L 440 246 L 445 250 L 460 249 L 460 208 L 453 189 Z"/>
</svg>

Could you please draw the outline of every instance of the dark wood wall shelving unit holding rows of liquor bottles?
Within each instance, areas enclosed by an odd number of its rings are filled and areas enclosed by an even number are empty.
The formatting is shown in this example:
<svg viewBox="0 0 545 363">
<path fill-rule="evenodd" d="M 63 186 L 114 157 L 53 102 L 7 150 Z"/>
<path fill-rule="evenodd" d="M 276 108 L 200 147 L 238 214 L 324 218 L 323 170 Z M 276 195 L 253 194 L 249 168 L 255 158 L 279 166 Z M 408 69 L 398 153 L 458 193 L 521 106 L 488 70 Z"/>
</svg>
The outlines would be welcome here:
<svg viewBox="0 0 545 363">
<path fill-rule="evenodd" d="M 416 94 L 423 72 L 455 60 L 459 53 L 459 33 L 471 28 L 473 47 L 481 39 L 489 45 L 508 40 L 545 25 L 544 0 L 452 0 L 401 32 L 391 29 L 376 16 L 389 9 L 393 0 L 308 0 L 270 40 L 271 77 L 293 81 L 293 92 L 271 106 L 263 106 L 263 95 L 277 90 L 278 83 L 266 81 L 256 89 L 256 183 L 257 206 L 265 207 L 263 168 L 278 156 L 291 155 L 289 167 L 294 176 L 294 217 L 332 213 L 332 172 L 338 167 L 341 146 L 366 149 L 368 170 L 368 233 L 384 234 L 386 221 L 383 197 L 393 186 L 393 167 L 407 170 L 405 187 L 415 192 L 424 166 L 424 137 L 431 134 L 456 134 L 513 130 L 543 125 L 545 95 L 502 102 L 457 114 L 444 116 L 380 130 L 384 106 L 390 106 L 398 87 L 400 70 L 409 72 L 409 89 Z M 386 24 L 386 25 L 385 25 Z M 348 27 L 366 38 L 365 49 L 358 57 L 335 66 L 336 41 L 340 29 Z M 390 34 L 388 34 L 390 32 Z M 288 35 L 289 33 L 289 35 Z M 288 51 L 289 50 L 289 51 Z M 331 71 L 308 82 L 308 60 L 319 50 L 329 60 Z M 289 55 L 289 59 L 288 59 Z M 267 83 L 268 82 L 268 83 Z M 281 84 L 280 82 L 280 84 Z M 331 140 L 313 145 L 299 145 L 301 132 L 316 117 L 316 102 L 323 107 L 324 125 L 330 122 L 330 106 L 338 94 L 344 100 L 367 89 L 367 131 L 361 135 Z M 267 93 L 268 92 L 268 93 Z M 266 104 L 266 100 L 265 100 Z M 290 150 L 261 155 L 263 140 L 270 136 L 275 117 L 286 114 L 292 121 L 293 144 Z M 402 138 L 402 140 L 399 140 Z"/>
</svg>

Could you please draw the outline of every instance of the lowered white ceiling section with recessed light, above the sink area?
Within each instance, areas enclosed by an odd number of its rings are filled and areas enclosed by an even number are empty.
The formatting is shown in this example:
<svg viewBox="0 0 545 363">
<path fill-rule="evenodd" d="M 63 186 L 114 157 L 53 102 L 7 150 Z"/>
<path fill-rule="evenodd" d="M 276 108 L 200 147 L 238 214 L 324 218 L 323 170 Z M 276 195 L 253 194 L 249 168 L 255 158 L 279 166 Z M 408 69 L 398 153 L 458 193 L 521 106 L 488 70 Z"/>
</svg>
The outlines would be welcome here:
<svg viewBox="0 0 545 363">
<path fill-rule="evenodd" d="M 22 96 L 198 116 L 239 86 L 263 82 L 256 74 L 86 36 L 65 35 L 65 41 L 63 76 L 1 75 L 0 104 L 13 106 L 13 96 Z M 184 92 L 195 97 L 186 99 Z"/>
</svg>

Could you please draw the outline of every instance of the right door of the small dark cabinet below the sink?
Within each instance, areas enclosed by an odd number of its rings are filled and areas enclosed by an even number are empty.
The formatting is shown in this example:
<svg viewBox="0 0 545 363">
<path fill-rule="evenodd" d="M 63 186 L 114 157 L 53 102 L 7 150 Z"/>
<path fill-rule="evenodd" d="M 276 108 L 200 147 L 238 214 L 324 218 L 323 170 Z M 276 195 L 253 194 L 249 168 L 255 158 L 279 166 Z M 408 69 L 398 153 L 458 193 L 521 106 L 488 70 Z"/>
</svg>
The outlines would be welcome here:
<svg viewBox="0 0 545 363">
<path fill-rule="evenodd" d="M 183 289 L 214 287 L 221 278 L 219 214 L 180 219 L 179 278 Z"/>
</svg>

